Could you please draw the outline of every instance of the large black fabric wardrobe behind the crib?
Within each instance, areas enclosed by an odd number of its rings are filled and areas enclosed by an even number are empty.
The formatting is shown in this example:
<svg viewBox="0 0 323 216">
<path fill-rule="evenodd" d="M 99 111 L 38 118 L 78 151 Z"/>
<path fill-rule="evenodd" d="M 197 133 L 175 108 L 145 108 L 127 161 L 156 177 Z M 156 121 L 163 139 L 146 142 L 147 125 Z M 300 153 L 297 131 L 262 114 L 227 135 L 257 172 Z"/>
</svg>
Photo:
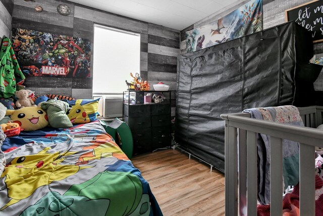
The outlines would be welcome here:
<svg viewBox="0 0 323 216">
<path fill-rule="evenodd" d="M 312 56 L 310 33 L 294 22 L 179 56 L 176 142 L 224 172 L 220 115 L 253 107 L 312 105 L 313 89 L 297 79 Z"/>
</svg>

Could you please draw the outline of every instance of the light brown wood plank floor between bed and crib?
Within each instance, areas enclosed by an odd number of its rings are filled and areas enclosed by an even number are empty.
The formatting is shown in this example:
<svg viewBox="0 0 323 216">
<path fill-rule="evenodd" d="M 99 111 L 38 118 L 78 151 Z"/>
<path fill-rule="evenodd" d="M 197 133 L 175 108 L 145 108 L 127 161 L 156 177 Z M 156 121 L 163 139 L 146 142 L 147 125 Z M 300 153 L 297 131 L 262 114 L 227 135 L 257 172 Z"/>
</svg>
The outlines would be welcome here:
<svg viewBox="0 0 323 216">
<path fill-rule="evenodd" d="M 132 158 L 165 216 L 224 215 L 225 178 L 178 149 L 159 150 Z"/>
</svg>

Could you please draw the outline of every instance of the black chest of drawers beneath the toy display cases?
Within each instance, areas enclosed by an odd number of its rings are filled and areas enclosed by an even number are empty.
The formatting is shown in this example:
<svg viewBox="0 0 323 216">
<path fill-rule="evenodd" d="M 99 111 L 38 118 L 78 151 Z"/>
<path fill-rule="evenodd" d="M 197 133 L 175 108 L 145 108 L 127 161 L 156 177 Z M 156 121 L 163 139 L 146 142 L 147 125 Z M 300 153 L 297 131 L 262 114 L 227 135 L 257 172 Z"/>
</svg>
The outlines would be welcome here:
<svg viewBox="0 0 323 216">
<path fill-rule="evenodd" d="M 171 146 L 170 99 L 158 104 L 124 101 L 123 117 L 132 132 L 133 155 Z"/>
</svg>

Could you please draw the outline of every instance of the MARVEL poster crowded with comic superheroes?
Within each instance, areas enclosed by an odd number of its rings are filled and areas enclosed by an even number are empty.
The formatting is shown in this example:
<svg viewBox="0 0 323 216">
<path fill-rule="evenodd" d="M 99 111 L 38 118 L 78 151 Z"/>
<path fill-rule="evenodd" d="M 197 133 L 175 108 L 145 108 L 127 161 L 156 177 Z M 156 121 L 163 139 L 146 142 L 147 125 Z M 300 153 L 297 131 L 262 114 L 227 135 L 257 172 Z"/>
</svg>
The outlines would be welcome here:
<svg viewBox="0 0 323 216">
<path fill-rule="evenodd" d="M 20 28 L 12 31 L 12 46 L 25 76 L 91 76 L 90 40 Z"/>
</svg>

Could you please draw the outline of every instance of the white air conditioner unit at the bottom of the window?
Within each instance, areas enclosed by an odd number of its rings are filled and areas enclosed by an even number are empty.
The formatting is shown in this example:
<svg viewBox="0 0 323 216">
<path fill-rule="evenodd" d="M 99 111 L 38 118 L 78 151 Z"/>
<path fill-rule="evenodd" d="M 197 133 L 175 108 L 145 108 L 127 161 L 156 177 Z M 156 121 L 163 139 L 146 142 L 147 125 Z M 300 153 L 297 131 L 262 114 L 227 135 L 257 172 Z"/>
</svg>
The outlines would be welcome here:
<svg viewBox="0 0 323 216">
<path fill-rule="evenodd" d="M 122 96 L 98 95 L 93 99 L 100 98 L 98 104 L 98 113 L 102 118 L 122 117 Z"/>
</svg>

